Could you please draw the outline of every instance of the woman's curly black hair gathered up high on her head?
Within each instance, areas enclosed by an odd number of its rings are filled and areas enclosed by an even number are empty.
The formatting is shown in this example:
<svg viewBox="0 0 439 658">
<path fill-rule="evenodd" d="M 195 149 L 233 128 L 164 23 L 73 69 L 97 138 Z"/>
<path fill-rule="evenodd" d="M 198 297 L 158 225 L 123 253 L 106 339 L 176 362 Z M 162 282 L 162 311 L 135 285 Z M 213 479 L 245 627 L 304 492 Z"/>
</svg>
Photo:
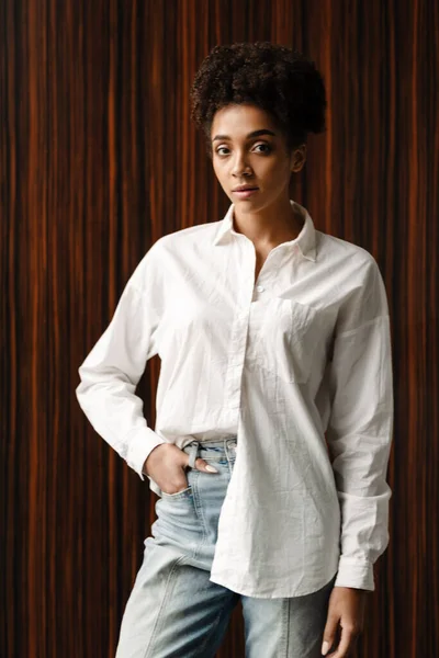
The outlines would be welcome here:
<svg viewBox="0 0 439 658">
<path fill-rule="evenodd" d="M 202 61 L 191 90 L 191 118 L 206 139 L 212 159 L 214 114 L 232 103 L 252 103 L 269 113 L 286 148 L 325 129 L 326 92 L 314 61 L 271 42 L 217 45 Z"/>
</svg>

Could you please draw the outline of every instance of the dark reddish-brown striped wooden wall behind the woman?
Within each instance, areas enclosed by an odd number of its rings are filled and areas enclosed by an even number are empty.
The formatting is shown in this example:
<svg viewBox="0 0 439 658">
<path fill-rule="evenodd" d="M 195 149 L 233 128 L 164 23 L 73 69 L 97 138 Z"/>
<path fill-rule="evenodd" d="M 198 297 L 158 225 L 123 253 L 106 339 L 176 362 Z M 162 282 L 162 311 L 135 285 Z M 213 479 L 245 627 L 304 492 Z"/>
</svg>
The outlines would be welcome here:
<svg viewBox="0 0 439 658">
<path fill-rule="evenodd" d="M 391 543 L 358 656 L 437 655 L 439 4 L 1 0 L 3 658 L 114 656 L 156 497 L 82 415 L 77 368 L 150 245 L 227 209 L 189 88 L 213 45 L 257 39 L 323 71 L 295 198 L 375 256 L 390 298 Z M 238 609 L 218 656 L 244 656 Z"/>
</svg>

